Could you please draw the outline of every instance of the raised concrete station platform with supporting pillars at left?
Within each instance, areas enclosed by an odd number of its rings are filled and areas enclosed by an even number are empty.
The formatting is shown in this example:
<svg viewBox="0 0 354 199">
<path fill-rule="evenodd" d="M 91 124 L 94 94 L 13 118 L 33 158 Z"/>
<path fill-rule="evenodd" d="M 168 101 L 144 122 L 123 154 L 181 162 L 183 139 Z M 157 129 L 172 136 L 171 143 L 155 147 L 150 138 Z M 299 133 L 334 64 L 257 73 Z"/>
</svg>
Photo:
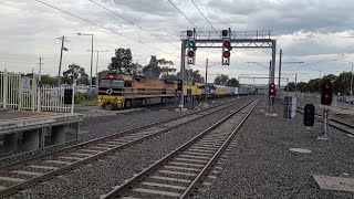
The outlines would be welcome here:
<svg viewBox="0 0 354 199">
<path fill-rule="evenodd" d="M 49 145 L 64 144 L 67 128 L 74 132 L 77 139 L 79 123 L 83 114 L 49 113 L 0 109 L 0 151 L 2 154 L 17 150 L 31 151 Z"/>
</svg>

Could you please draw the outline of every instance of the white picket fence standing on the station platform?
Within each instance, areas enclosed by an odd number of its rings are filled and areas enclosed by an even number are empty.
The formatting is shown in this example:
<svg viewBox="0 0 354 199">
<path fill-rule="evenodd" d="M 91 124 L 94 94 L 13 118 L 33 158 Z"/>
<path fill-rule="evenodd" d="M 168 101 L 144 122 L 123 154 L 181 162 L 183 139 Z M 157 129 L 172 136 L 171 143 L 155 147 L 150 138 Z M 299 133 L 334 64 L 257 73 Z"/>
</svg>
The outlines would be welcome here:
<svg viewBox="0 0 354 199">
<path fill-rule="evenodd" d="M 38 75 L 0 71 L 0 107 L 38 112 L 71 112 L 64 104 L 64 91 L 72 86 L 39 86 Z"/>
</svg>

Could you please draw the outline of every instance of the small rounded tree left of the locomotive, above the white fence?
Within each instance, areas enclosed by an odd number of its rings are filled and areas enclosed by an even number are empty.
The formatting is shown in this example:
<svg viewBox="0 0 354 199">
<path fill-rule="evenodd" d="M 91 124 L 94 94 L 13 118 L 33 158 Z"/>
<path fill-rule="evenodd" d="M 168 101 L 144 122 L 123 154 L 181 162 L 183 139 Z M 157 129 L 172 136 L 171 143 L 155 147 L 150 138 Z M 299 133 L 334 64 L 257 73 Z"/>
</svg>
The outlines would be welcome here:
<svg viewBox="0 0 354 199">
<path fill-rule="evenodd" d="M 77 84 L 88 84 L 88 75 L 85 73 L 85 69 L 74 63 L 69 65 L 67 71 L 63 72 L 63 83 L 72 84 L 72 76 L 77 80 Z"/>
</svg>

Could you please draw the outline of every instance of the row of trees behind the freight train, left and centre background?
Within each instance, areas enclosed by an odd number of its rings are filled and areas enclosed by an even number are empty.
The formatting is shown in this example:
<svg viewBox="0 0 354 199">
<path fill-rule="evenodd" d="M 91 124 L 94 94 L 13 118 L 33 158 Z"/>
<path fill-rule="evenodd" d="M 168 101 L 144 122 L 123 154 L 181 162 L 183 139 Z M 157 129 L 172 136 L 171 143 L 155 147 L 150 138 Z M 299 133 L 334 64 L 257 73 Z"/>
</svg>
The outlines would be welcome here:
<svg viewBox="0 0 354 199">
<path fill-rule="evenodd" d="M 144 75 L 147 78 L 162 78 L 166 81 L 177 81 L 179 78 L 179 72 L 176 73 L 176 69 L 171 67 L 173 61 L 165 59 L 157 59 L 156 55 L 152 55 L 148 64 L 140 65 L 133 62 L 133 55 L 131 49 L 116 49 L 114 56 L 111 57 L 111 63 L 107 70 L 98 72 L 98 80 L 101 80 L 107 72 L 116 72 L 123 74 L 138 74 Z M 201 76 L 199 70 L 186 70 L 185 76 L 188 82 L 205 83 L 205 78 Z M 33 74 L 29 73 L 27 76 L 32 77 Z M 73 63 L 67 66 L 62 73 L 61 83 L 71 85 L 72 76 L 75 77 L 77 84 L 90 84 L 90 76 L 85 72 L 84 67 Z M 92 77 L 92 84 L 95 85 L 96 76 Z M 41 75 L 41 84 L 56 85 L 58 77 L 49 74 Z M 236 78 L 229 78 L 228 75 L 219 75 L 215 78 L 215 84 L 238 86 Z"/>
</svg>

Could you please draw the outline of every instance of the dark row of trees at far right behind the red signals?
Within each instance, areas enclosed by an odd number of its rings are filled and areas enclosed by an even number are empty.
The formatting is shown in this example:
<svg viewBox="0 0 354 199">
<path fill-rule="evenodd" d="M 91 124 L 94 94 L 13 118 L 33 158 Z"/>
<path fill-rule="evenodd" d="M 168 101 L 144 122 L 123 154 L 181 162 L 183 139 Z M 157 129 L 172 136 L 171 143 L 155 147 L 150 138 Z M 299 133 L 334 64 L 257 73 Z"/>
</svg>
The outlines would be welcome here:
<svg viewBox="0 0 354 199">
<path fill-rule="evenodd" d="M 322 84 L 326 81 L 331 81 L 333 85 L 333 92 L 341 95 L 348 95 L 351 91 L 351 72 L 342 72 L 340 75 L 329 74 L 323 76 L 322 78 L 312 78 L 308 83 L 299 82 L 296 84 L 296 90 L 300 92 L 305 93 L 320 93 Z M 295 83 L 290 82 L 288 84 L 288 91 L 294 92 L 295 91 Z M 287 91 L 285 87 L 285 91 Z"/>
</svg>

